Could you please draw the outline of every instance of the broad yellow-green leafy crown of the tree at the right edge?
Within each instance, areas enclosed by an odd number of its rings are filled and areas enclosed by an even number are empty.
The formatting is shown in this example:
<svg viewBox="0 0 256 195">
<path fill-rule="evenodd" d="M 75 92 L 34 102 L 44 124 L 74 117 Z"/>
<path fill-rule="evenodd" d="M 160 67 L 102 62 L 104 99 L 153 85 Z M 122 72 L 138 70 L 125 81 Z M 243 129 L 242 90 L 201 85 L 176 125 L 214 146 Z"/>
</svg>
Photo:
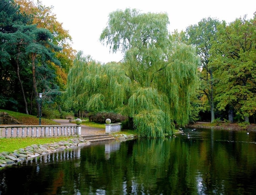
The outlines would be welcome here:
<svg viewBox="0 0 256 195">
<path fill-rule="evenodd" d="M 219 28 L 214 61 L 219 66 L 218 107 L 233 106 L 245 121 L 256 111 L 256 15 Z"/>
</svg>

